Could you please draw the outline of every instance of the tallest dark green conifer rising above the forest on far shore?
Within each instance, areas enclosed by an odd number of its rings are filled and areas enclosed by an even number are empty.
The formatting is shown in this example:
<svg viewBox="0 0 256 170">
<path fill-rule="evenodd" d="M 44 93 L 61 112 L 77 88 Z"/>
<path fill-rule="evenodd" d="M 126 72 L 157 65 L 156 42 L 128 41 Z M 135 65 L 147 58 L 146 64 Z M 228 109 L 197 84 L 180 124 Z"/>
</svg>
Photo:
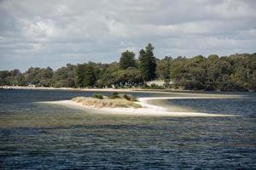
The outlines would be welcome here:
<svg viewBox="0 0 256 170">
<path fill-rule="evenodd" d="M 150 81 L 155 77 L 155 68 L 156 61 L 153 53 L 154 47 L 151 43 L 148 43 L 148 46 L 144 49 L 140 50 L 140 70 L 142 72 L 143 80 Z"/>
</svg>

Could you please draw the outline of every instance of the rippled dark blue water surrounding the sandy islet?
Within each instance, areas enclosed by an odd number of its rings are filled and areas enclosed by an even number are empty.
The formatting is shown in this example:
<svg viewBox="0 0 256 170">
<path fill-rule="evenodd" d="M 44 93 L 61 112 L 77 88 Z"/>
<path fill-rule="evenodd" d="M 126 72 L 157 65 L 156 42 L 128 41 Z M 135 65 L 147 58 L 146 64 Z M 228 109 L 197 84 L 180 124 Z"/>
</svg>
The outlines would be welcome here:
<svg viewBox="0 0 256 170">
<path fill-rule="evenodd" d="M 106 116 L 35 103 L 90 94 L 0 90 L 1 169 L 256 167 L 254 94 L 162 101 L 169 108 L 241 117 Z"/>
</svg>

